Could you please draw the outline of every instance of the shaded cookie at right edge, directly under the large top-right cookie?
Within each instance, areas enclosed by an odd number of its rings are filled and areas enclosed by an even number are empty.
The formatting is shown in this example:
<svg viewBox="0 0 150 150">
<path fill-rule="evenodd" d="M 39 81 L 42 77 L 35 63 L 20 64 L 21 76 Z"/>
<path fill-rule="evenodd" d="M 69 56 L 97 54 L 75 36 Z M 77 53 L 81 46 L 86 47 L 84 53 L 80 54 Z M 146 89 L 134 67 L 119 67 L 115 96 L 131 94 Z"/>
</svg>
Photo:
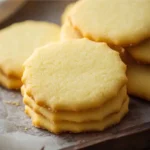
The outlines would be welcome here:
<svg viewBox="0 0 150 150">
<path fill-rule="evenodd" d="M 150 64 L 150 39 L 129 47 L 127 50 L 137 62 Z"/>
</svg>

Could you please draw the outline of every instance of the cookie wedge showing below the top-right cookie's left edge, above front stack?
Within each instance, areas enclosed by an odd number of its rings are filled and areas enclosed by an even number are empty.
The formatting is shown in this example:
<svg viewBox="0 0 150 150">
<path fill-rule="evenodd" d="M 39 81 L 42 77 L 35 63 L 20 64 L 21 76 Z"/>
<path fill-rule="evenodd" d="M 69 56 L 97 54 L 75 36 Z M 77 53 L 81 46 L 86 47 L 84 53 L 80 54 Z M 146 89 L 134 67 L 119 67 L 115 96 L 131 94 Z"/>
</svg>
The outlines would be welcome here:
<svg viewBox="0 0 150 150">
<path fill-rule="evenodd" d="M 60 40 L 65 41 L 65 40 L 71 40 L 71 39 L 80 39 L 82 38 L 81 34 L 79 31 L 75 30 L 69 21 L 66 21 L 62 27 L 61 27 L 61 32 L 60 32 Z"/>
</svg>

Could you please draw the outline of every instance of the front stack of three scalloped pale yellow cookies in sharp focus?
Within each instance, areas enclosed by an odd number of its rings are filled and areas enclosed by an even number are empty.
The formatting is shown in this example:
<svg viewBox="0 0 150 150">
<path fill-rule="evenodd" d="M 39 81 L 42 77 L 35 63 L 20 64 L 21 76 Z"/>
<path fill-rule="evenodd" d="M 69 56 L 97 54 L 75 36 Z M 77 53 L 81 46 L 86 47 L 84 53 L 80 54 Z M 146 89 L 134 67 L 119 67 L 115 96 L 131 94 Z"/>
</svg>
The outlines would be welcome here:
<svg viewBox="0 0 150 150">
<path fill-rule="evenodd" d="M 51 43 L 24 63 L 25 112 L 34 126 L 53 133 L 102 131 L 128 112 L 125 71 L 105 43 Z"/>
</svg>

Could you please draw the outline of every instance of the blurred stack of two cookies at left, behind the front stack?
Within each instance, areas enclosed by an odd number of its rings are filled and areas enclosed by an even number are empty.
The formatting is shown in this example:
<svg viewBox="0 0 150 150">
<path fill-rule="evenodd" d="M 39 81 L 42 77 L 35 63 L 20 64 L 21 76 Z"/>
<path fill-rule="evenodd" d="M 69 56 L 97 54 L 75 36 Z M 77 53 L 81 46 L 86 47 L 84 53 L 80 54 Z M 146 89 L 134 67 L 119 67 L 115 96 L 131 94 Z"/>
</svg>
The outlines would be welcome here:
<svg viewBox="0 0 150 150">
<path fill-rule="evenodd" d="M 19 89 L 22 64 L 36 47 L 59 40 L 60 27 L 46 22 L 25 21 L 0 31 L 0 85 Z"/>
</svg>

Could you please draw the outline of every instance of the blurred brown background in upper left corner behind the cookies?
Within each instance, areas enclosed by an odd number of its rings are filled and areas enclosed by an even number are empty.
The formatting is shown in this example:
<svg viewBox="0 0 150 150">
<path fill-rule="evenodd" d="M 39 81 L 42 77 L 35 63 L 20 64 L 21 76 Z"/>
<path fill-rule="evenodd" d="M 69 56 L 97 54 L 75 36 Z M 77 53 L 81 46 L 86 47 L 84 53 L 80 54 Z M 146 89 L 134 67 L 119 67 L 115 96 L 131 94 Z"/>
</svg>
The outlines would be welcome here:
<svg viewBox="0 0 150 150">
<path fill-rule="evenodd" d="M 60 24 L 60 15 L 75 0 L 0 0 L 0 29 L 24 20 Z"/>
</svg>

